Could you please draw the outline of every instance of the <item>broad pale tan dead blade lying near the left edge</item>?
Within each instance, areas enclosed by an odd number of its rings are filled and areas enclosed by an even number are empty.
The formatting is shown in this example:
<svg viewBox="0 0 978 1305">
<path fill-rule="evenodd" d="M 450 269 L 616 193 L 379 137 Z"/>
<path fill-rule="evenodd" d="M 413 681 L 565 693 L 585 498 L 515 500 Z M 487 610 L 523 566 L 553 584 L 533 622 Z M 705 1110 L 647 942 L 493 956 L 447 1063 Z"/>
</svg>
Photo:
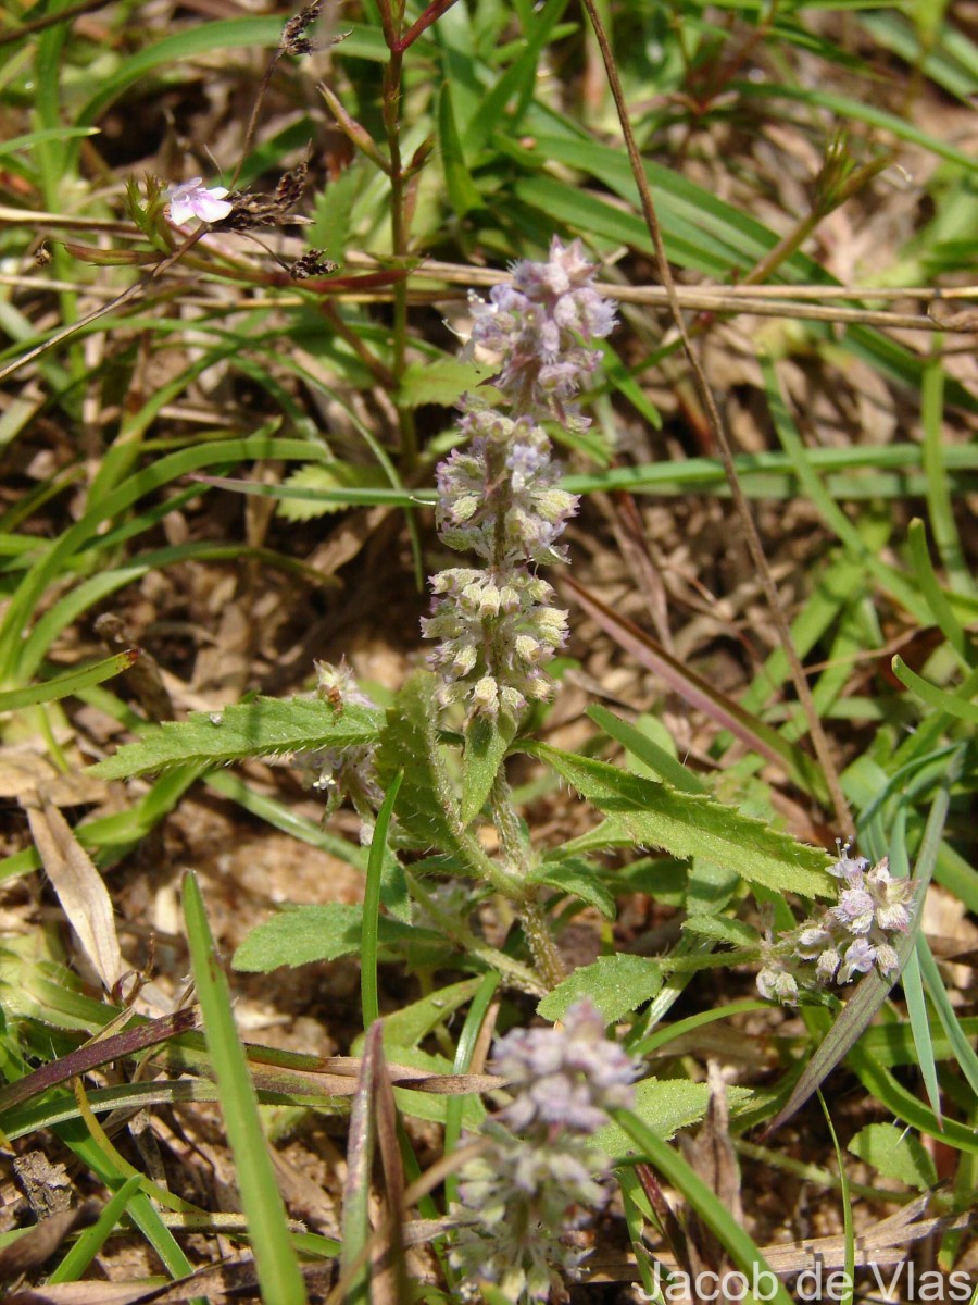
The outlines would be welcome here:
<svg viewBox="0 0 978 1305">
<path fill-rule="evenodd" d="M 112 899 L 89 853 L 57 806 L 23 803 L 31 837 L 40 853 L 68 921 L 95 968 L 106 992 L 129 968 L 123 960 L 112 914 Z"/>
</svg>

